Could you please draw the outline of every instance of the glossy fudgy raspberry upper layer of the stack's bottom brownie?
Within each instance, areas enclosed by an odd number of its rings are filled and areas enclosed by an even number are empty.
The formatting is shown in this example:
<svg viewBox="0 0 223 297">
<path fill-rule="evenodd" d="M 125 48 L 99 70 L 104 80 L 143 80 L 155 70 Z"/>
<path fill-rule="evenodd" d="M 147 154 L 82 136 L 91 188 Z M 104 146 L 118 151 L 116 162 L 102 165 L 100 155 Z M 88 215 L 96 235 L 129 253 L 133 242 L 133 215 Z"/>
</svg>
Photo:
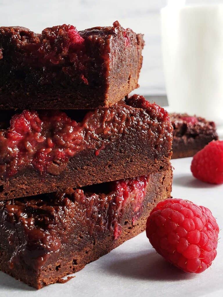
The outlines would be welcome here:
<svg viewBox="0 0 223 297">
<path fill-rule="evenodd" d="M 63 245 L 112 233 L 120 237 L 123 219 L 134 225 L 143 211 L 149 176 L 113 181 L 83 189 L 0 202 L 0 248 L 10 267 L 25 262 L 38 270 Z M 104 193 L 101 193 L 101 192 Z M 70 240 L 70 241 L 69 241 Z"/>
</svg>

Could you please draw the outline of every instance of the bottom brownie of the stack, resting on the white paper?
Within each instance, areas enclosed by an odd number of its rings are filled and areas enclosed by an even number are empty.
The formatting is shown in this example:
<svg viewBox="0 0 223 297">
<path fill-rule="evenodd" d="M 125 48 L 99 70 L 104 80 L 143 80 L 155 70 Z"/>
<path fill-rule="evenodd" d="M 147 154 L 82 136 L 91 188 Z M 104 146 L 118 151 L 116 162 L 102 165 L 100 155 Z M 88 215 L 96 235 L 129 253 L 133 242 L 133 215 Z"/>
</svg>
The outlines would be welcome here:
<svg viewBox="0 0 223 297">
<path fill-rule="evenodd" d="M 170 197 L 172 168 L 110 183 L 0 202 L 0 269 L 37 289 L 145 230 Z"/>
</svg>

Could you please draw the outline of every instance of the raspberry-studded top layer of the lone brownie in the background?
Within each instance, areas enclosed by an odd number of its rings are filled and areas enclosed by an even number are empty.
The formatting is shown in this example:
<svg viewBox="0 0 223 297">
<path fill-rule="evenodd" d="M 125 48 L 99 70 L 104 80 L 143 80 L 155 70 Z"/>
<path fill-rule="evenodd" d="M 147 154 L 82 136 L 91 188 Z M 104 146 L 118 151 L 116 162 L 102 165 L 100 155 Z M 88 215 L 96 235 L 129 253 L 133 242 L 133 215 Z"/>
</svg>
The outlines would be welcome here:
<svg viewBox="0 0 223 297">
<path fill-rule="evenodd" d="M 197 135 L 213 135 L 217 138 L 216 126 L 213 121 L 206 121 L 197 116 L 172 113 L 170 119 L 173 125 L 173 136 L 196 137 Z"/>
</svg>

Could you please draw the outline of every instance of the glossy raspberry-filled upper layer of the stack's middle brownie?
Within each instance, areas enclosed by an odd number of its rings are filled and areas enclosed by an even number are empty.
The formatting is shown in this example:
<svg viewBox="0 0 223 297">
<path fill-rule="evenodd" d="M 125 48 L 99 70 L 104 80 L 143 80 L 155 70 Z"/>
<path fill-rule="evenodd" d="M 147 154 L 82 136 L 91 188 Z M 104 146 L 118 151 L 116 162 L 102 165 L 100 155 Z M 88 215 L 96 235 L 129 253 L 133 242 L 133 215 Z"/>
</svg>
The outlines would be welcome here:
<svg viewBox="0 0 223 297">
<path fill-rule="evenodd" d="M 11 111 L 9 116 L 0 112 L 0 175 L 9 178 L 26 168 L 59 175 L 81 151 L 94 150 L 97 157 L 110 143 L 122 137 L 131 141 L 136 134 L 149 143 L 154 159 L 171 155 L 169 114 L 142 96 L 126 97 L 125 103 L 109 108 L 67 113 L 23 110 L 11 117 Z"/>
</svg>

